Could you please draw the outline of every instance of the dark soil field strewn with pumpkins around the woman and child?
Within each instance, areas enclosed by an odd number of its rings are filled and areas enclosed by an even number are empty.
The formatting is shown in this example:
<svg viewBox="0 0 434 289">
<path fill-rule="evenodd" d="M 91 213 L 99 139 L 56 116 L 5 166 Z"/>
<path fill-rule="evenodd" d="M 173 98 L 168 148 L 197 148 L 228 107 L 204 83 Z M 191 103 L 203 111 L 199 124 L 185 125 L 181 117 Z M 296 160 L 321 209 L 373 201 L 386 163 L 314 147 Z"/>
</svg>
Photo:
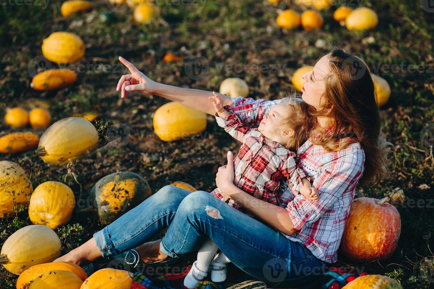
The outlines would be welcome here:
<svg viewBox="0 0 434 289">
<path fill-rule="evenodd" d="M 238 152 L 214 116 L 137 91 L 121 98 L 119 56 L 164 84 L 274 100 L 301 94 L 301 74 L 334 47 L 367 65 L 393 145 L 390 176 L 356 190 L 375 201 L 352 205 L 359 230 L 392 230 L 363 239 L 381 248 L 375 257 L 345 232 L 338 257 L 401 284 L 345 288 L 434 288 L 431 2 L 2 0 L 0 289 L 27 288 L 44 263 L 166 185 L 211 192 L 227 151 Z M 28 288 L 114 288 L 72 263 L 55 270 L 49 286 Z M 104 270 L 133 288 L 125 271 Z"/>
</svg>

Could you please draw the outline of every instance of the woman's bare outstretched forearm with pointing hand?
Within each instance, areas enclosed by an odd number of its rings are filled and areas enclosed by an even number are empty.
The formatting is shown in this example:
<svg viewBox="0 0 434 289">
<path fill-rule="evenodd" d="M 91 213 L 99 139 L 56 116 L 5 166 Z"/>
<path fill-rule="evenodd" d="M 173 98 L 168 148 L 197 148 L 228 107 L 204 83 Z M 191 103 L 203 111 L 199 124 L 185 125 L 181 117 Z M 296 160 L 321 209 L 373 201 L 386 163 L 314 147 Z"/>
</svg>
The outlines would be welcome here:
<svg viewBox="0 0 434 289">
<path fill-rule="evenodd" d="M 213 96 L 212 92 L 199 89 L 179 88 L 158 83 L 138 71 L 138 69 L 126 59 L 119 56 L 119 61 L 131 72 L 130 74 L 122 75 L 118 81 L 116 91 L 121 91 L 122 98 L 127 97 L 127 92 L 141 91 L 144 94 L 158 95 L 170 101 L 176 101 L 207 114 L 215 114 L 212 101 L 208 98 Z M 224 106 L 232 104 L 232 98 L 230 97 L 225 97 L 222 101 L 224 102 Z"/>
</svg>

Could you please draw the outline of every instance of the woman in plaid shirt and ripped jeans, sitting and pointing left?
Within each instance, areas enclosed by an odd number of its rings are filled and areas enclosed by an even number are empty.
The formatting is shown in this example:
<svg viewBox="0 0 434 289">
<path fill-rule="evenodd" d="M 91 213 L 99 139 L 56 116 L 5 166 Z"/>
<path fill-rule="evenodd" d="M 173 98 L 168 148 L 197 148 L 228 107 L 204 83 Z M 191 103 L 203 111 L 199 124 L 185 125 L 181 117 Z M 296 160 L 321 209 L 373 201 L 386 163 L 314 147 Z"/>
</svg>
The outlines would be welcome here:
<svg viewBox="0 0 434 289">
<path fill-rule="evenodd" d="M 214 114 L 210 92 L 156 83 L 119 60 L 131 71 L 117 86 L 123 98 L 128 91 L 142 91 Z M 355 67 L 362 73 L 355 74 Z M 316 122 L 296 161 L 318 189 L 319 201 L 294 196 L 285 184 L 279 206 L 252 197 L 233 185 L 229 152 L 227 166 L 218 169 L 217 187 L 262 222 L 207 192 L 166 186 L 57 261 L 80 264 L 136 248 L 146 263 L 189 253 L 209 236 L 233 264 L 257 279 L 286 288 L 311 283 L 326 263 L 337 260 L 357 183 L 378 183 L 387 174 L 387 143 L 367 71 L 360 59 L 334 49 L 302 75 L 302 99 Z M 279 103 L 243 97 L 224 102 L 246 125 L 258 125 Z M 169 225 L 161 240 L 145 243 Z"/>
</svg>

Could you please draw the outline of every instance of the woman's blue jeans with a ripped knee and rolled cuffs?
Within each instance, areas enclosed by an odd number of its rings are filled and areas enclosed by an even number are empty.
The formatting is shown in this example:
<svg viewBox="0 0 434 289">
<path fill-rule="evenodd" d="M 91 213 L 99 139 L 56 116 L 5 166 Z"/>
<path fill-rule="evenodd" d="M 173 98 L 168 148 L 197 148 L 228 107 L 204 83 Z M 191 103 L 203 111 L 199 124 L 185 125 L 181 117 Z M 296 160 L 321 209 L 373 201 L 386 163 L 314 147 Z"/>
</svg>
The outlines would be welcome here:
<svg viewBox="0 0 434 289">
<path fill-rule="evenodd" d="M 312 284 L 326 264 L 304 245 L 210 193 L 173 186 L 165 186 L 93 236 L 102 256 L 109 257 L 144 244 L 169 225 L 160 244 L 164 254 L 192 252 L 209 236 L 234 265 L 275 286 Z"/>
</svg>

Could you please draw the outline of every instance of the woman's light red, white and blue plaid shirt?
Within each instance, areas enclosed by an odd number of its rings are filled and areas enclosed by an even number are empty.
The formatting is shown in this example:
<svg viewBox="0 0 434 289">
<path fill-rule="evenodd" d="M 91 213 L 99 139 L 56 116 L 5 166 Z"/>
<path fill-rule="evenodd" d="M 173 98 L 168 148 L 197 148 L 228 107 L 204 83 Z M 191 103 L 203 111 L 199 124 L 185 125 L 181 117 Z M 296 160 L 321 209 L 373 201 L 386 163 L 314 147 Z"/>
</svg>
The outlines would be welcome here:
<svg viewBox="0 0 434 289">
<path fill-rule="evenodd" d="M 281 100 L 265 101 L 233 98 L 232 110 L 244 125 L 259 125 L 264 115 Z M 344 137 L 342 142 L 348 138 Z M 290 240 L 304 244 L 317 258 L 333 263 L 341 242 L 345 223 L 362 177 L 365 153 L 359 143 L 352 143 L 338 152 L 327 153 L 322 146 L 306 141 L 297 151 L 296 164 L 312 177 L 319 201 L 294 195 L 287 182 L 279 191 L 279 206 L 286 208 L 293 227 L 299 230 Z"/>
</svg>

